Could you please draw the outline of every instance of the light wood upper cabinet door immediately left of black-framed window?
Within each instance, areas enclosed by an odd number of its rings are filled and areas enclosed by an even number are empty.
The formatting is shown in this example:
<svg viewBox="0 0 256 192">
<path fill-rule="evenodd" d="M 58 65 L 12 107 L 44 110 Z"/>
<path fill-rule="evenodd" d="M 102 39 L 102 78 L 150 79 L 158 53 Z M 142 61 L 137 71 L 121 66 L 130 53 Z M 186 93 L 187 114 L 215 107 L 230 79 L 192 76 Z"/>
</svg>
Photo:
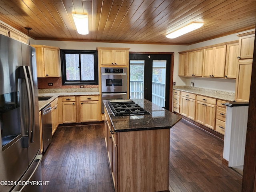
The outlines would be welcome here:
<svg viewBox="0 0 256 192">
<path fill-rule="evenodd" d="M 44 48 L 44 72 L 46 77 L 58 77 L 59 62 L 58 50 L 53 48 Z"/>
</svg>

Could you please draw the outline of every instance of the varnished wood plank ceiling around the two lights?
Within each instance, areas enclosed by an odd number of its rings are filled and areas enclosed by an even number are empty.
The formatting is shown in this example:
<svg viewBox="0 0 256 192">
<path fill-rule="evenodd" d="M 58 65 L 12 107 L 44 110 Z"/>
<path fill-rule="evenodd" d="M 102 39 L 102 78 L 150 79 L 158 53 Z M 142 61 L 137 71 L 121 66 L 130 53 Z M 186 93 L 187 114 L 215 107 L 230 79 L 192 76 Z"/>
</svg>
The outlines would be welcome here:
<svg viewBox="0 0 256 192">
<path fill-rule="evenodd" d="M 72 13 L 88 14 L 88 35 Z M 36 40 L 189 45 L 255 29 L 256 0 L 0 0 L 0 20 Z M 191 22 L 204 26 L 165 37 Z"/>
</svg>

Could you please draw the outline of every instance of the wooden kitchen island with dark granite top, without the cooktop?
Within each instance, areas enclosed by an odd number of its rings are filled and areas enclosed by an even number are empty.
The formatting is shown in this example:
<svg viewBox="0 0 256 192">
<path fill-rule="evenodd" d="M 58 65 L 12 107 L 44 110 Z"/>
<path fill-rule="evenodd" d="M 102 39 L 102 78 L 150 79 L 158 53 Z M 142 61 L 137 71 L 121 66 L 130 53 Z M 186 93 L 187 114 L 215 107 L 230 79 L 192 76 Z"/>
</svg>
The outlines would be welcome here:
<svg viewBox="0 0 256 192">
<path fill-rule="evenodd" d="M 170 128 L 181 118 L 145 99 L 150 114 L 114 116 L 108 100 L 104 135 L 116 192 L 169 191 Z"/>
</svg>

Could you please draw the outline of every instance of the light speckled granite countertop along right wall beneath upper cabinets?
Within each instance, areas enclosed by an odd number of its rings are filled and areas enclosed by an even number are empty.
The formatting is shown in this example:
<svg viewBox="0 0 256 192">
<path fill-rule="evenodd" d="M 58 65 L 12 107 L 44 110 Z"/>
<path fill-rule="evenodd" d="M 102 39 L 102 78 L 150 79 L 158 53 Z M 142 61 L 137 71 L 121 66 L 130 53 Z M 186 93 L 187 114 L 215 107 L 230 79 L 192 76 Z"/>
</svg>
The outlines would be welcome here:
<svg viewBox="0 0 256 192">
<path fill-rule="evenodd" d="M 194 93 L 197 95 L 212 97 L 220 100 L 226 100 L 226 101 L 232 101 L 232 102 L 235 100 L 235 93 L 233 92 L 226 92 L 226 91 L 191 87 L 191 86 L 173 86 L 173 89 Z"/>
</svg>

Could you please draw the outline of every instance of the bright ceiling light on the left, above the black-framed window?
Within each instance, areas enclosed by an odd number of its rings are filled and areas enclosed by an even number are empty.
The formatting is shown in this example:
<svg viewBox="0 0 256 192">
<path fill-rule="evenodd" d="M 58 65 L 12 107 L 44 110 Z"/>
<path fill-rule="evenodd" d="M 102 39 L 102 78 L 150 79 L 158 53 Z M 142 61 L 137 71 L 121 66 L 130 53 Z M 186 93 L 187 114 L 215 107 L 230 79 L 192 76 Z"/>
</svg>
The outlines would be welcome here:
<svg viewBox="0 0 256 192">
<path fill-rule="evenodd" d="M 72 14 L 76 30 L 81 35 L 87 35 L 89 34 L 89 28 L 88 28 L 88 15 L 83 14 Z"/>
</svg>

